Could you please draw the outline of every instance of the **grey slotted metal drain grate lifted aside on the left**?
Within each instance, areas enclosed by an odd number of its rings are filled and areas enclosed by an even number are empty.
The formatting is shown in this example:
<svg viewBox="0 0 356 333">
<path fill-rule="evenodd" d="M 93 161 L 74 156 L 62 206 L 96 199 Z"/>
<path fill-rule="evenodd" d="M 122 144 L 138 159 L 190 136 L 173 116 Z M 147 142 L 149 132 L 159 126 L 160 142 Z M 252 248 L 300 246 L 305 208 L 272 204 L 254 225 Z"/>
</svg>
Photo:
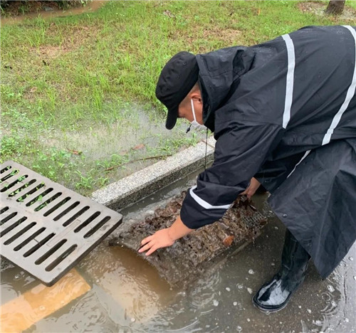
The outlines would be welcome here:
<svg viewBox="0 0 356 333">
<path fill-rule="evenodd" d="M 1 255 L 51 286 L 122 216 L 9 161 L 0 169 Z"/>
</svg>

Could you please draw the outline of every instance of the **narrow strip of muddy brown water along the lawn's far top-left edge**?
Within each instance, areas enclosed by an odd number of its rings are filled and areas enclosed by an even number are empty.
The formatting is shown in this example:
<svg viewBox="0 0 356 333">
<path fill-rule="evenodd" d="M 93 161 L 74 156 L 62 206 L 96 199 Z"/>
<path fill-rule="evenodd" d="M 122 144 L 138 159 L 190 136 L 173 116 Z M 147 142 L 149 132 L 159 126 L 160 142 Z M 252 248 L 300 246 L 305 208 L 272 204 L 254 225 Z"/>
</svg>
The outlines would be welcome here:
<svg viewBox="0 0 356 333">
<path fill-rule="evenodd" d="M 72 16 L 84 13 L 91 13 L 98 10 L 101 6 L 105 4 L 106 1 L 94 0 L 85 6 L 70 8 L 70 9 L 53 9 L 48 7 L 48 11 L 38 11 L 36 13 L 28 13 L 20 16 L 11 16 L 11 17 L 1 17 L 1 26 L 6 26 L 9 24 L 20 23 L 25 21 L 27 18 L 54 18 L 58 16 Z"/>
</svg>

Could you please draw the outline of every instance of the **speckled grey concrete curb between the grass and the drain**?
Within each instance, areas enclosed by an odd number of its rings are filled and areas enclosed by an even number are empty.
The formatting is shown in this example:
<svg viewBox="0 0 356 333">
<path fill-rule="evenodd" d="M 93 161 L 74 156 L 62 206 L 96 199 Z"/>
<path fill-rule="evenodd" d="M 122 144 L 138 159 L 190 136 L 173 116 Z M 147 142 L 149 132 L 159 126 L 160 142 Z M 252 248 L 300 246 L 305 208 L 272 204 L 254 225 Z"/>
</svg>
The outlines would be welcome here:
<svg viewBox="0 0 356 333">
<path fill-rule="evenodd" d="M 214 157 L 214 137 L 210 137 L 207 143 L 207 161 L 211 162 Z M 91 199 L 119 211 L 204 166 L 205 149 L 204 140 L 93 192 Z"/>
</svg>

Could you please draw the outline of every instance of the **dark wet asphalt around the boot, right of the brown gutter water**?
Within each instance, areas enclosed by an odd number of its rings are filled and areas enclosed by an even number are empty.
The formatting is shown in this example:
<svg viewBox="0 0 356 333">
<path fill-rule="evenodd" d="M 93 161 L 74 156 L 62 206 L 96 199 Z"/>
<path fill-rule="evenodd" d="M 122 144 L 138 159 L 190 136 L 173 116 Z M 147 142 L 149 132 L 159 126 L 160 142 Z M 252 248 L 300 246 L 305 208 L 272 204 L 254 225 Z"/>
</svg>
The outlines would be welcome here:
<svg viewBox="0 0 356 333">
<path fill-rule="evenodd" d="M 252 305 L 254 293 L 280 265 L 285 227 L 254 196 L 269 215 L 263 233 L 242 252 L 226 258 L 211 274 L 182 292 L 152 321 L 136 329 L 152 332 L 356 332 L 356 244 L 342 263 L 321 280 L 310 263 L 305 282 L 280 312 L 266 314 Z"/>
</svg>

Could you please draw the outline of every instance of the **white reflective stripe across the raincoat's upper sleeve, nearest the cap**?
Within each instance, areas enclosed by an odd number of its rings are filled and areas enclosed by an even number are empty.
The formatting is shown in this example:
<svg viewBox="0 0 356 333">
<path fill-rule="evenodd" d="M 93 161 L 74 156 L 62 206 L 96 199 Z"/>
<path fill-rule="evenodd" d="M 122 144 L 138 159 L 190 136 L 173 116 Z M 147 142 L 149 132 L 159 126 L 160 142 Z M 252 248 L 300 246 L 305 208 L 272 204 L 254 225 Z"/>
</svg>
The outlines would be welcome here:
<svg viewBox="0 0 356 333">
<path fill-rule="evenodd" d="M 286 100 L 284 102 L 283 125 L 282 125 L 283 128 L 286 128 L 290 120 L 290 108 L 292 107 L 292 100 L 293 100 L 295 54 L 294 54 L 294 44 L 292 38 L 290 38 L 288 33 L 286 35 L 283 35 L 282 38 L 286 42 L 287 55 L 288 55 Z"/>
</svg>

